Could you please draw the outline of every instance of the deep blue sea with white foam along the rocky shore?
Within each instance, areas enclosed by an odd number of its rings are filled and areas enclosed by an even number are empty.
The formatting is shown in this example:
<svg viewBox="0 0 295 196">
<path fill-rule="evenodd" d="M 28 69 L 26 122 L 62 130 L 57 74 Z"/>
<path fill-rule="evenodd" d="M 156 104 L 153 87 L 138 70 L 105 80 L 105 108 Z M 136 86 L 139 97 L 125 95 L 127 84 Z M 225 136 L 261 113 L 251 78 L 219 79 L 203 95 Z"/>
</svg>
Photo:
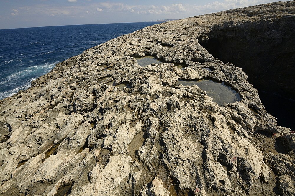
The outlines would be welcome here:
<svg viewBox="0 0 295 196">
<path fill-rule="evenodd" d="M 31 86 L 56 63 L 118 36 L 160 22 L 0 30 L 0 100 Z"/>
</svg>

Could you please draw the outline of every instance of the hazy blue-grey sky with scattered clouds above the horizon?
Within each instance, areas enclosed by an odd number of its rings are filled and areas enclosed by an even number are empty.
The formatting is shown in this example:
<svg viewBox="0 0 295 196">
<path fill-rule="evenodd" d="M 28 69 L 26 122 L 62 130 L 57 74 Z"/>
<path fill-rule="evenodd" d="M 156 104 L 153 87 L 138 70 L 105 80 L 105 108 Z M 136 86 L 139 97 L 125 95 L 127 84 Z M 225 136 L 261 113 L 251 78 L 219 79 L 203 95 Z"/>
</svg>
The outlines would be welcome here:
<svg viewBox="0 0 295 196">
<path fill-rule="evenodd" d="M 182 19 L 274 0 L 0 0 L 0 29 Z"/>
</svg>

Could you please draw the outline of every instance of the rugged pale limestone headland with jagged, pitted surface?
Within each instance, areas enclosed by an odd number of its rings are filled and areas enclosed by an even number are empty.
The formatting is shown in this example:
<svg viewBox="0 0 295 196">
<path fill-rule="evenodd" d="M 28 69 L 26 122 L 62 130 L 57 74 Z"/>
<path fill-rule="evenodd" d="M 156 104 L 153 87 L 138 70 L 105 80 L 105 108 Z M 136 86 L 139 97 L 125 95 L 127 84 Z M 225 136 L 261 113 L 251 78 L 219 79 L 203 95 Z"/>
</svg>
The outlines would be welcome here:
<svg viewBox="0 0 295 196">
<path fill-rule="evenodd" d="M 1 100 L 1 194 L 294 195 L 293 132 L 277 126 L 241 68 L 200 45 L 226 34 L 212 29 L 294 19 L 287 4 L 146 27 Z M 164 63 L 139 65 L 148 55 Z M 202 90 L 200 79 L 241 99 L 217 104 L 227 95 Z"/>
</svg>

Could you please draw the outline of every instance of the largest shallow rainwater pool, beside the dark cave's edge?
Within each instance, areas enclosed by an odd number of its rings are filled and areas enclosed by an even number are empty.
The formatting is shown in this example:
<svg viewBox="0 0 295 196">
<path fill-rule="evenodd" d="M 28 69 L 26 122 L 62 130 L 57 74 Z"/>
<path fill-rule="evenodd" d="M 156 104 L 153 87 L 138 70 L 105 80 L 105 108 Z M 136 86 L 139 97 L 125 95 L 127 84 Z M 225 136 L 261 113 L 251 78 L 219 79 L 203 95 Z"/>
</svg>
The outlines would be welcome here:
<svg viewBox="0 0 295 196">
<path fill-rule="evenodd" d="M 178 80 L 175 86 L 182 84 L 183 86 L 193 86 L 194 84 L 206 91 L 207 95 L 213 99 L 219 106 L 224 106 L 229 103 L 235 103 L 240 101 L 240 95 L 231 87 L 222 83 L 214 82 L 212 80 L 197 80 L 197 81 L 185 81 Z"/>
</svg>

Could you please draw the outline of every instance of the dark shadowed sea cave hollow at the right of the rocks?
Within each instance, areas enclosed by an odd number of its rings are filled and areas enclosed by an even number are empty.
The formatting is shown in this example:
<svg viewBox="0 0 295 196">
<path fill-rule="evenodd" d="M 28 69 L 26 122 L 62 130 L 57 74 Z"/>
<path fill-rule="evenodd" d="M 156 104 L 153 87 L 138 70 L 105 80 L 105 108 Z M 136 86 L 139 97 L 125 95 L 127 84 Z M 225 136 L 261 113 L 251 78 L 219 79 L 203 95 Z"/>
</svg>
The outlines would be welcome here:
<svg viewBox="0 0 295 196">
<path fill-rule="evenodd" d="M 279 126 L 295 130 L 295 18 L 228 24 L 211 29 L 199 43 L 223 63 L 248 75 L 268 113 Z"/>
</svg>

